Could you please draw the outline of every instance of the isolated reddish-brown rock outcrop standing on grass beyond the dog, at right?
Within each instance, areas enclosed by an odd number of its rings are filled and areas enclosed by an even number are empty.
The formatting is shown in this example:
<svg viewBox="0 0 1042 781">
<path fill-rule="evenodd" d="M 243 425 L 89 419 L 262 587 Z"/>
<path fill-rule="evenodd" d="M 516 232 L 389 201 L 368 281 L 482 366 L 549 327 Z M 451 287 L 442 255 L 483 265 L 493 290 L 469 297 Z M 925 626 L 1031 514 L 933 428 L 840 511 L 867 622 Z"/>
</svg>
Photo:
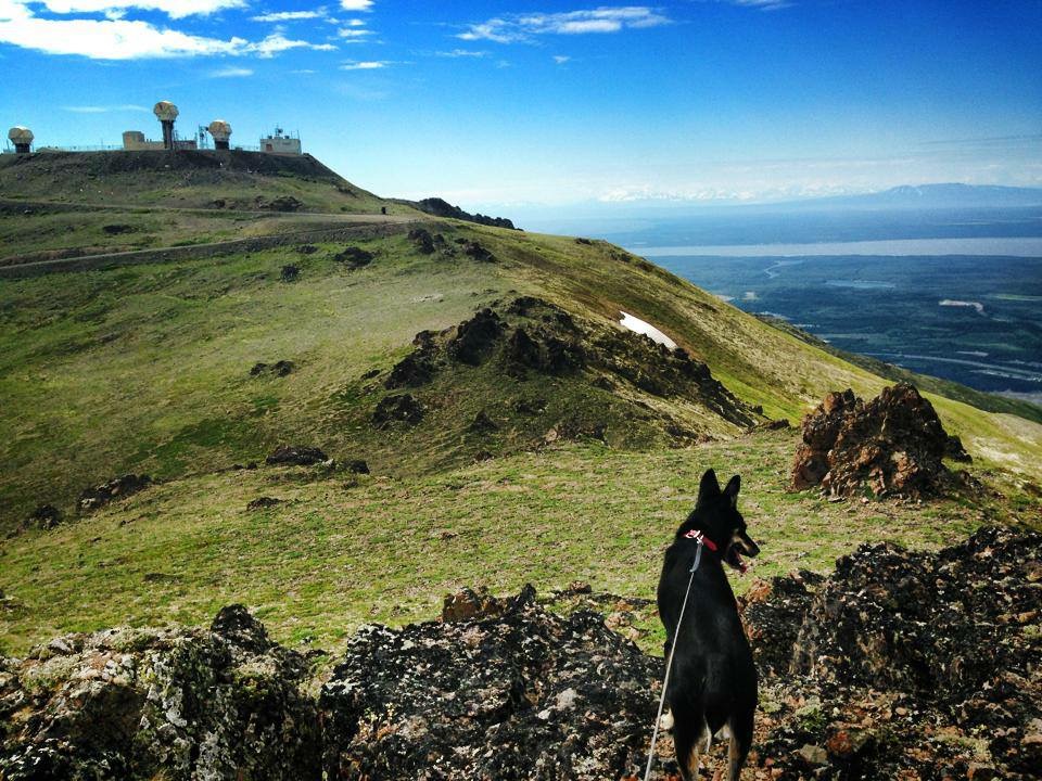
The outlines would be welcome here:
<svg viewBox="0 0 1042 781">
<path fill-rule="evenodd" d="M 953 483 L 942 459 L 969 460 L 907 383 L 868 402 L 850 389 L 830 393 L 803 419 L 802 436 L 792 463 L 796 490 L 821 485 L 834 496 L 932 496 Z"/>
</svg>

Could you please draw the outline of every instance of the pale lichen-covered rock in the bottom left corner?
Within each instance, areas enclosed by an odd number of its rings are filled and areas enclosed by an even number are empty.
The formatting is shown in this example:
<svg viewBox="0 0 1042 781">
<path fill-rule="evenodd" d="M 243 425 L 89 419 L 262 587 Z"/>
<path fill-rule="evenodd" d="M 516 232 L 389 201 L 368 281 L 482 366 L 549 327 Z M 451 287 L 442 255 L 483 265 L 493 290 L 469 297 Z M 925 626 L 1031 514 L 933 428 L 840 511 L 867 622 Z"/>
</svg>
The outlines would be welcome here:
<svg viewBox="0 0 1042 781">
<path fill-rule="evenodd" d="M 65 636 L 0 662 L 0 777 L 319 778 L 305 677 L 241 605 L 209 631 Z"/>
</svg>

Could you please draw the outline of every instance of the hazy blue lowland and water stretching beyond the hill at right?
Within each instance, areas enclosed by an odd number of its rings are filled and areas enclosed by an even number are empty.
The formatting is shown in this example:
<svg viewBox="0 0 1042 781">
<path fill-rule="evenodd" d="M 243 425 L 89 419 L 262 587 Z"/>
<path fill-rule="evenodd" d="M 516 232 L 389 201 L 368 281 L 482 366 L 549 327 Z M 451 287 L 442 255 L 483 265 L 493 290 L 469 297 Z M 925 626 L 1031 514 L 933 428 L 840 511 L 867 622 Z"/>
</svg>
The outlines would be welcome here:
<svg viewBox="0 0 1042 781">
<path fill-rule="evenodd" d="M 841 349 L 1042 404 L 1040 208 L 703 214 L 570 228 Z"/>
</svg>

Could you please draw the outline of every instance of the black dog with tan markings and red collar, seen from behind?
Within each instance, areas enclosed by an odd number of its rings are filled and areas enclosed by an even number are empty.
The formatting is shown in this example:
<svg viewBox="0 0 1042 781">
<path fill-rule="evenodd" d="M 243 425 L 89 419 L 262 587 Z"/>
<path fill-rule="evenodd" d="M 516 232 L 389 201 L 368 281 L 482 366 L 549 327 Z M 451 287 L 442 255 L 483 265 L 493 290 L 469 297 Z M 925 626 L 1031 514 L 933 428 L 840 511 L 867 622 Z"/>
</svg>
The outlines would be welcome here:
<svg viewBox="0 0 1042 781">
<path fill-rule="evenodd" d="M 659 580 L 659 616 L 665 626 L 665 652 L 673 652 L 666 704 L 673 720 L 676 761 L 684 781 L 698 774 L 699 755 L 717 732 L 730 734 L 728 781 L 738 781 L 752 744 L 757 709 L 757 668 L 741 628 L 735 593 L 724 563 L 745 572 L 742 556 L 760 547 L 746 533 L 738 512 L 740 478 L 721 490 L 716 474 L 702 475 L 698 501 L 665 551 Z M 691 580 L 684 620 L 677 626 L 701 533 L 702 551 Z"/>
</svg>

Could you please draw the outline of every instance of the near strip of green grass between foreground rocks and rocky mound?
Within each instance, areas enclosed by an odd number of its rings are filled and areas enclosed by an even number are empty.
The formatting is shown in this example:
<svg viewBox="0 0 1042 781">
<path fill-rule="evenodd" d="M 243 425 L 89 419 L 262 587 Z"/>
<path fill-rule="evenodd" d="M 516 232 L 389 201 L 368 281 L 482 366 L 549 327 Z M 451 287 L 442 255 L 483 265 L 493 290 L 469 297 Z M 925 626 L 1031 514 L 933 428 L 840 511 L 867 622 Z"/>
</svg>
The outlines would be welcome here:
<svg viewBox="0 0 1042 781">
<path fill-rule="evenodd" d="M 990 499 L 789 494 L 793 448 L 783 432 L 639 454 L 569 445 L 408 479 L 262 468 L 170 482 L 9 540 L 0 588 L 15 607 L 0 614 L 0 649 L 117 624 L 201 624 L 229 602 L 281 641 L 335 648 L 367 622 L 434 617 L 462 586 L 508 593 L 532 582 L 546 594 L 577 579 L 652 598 L 661 553 L 710 466 L 742 475 L 741 509 L 763 548 L 752 574 L 733 578 L 739 591 L 753 575 L 827 572 L 864 541 L 935 548 L 982 523 L 1030 521 Z M 283 503 L 247 512 L 257 496 Z M 650 611 L 637 627 L 661 648 Z"/>
</svg>

